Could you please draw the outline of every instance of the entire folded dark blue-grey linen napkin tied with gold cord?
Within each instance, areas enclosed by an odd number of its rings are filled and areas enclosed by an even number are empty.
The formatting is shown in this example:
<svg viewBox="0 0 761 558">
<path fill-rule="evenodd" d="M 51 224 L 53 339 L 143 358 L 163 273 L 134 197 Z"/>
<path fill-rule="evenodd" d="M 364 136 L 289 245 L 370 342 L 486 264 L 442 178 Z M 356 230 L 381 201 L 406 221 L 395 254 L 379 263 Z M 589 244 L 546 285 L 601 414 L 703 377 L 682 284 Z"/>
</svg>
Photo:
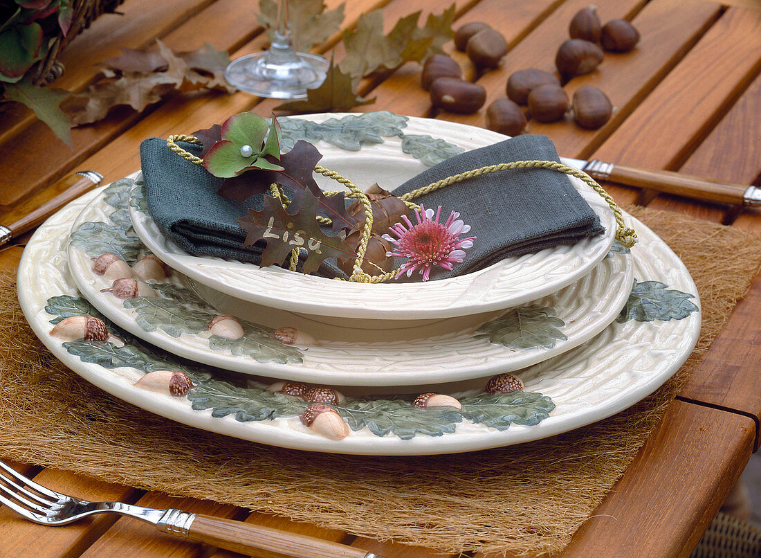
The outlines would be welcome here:
<svg viewBox="0 0 761 558">
<path fill-rule="evenodd" d="M 182 147 L 193 155 L 201 151 L 197 145 Z M 245 202 L 218 196 L 221 179 L 174 154 L 163 139 L 142 142 L 140 155 L 148 209 L 167 238 L 195 255 L 260 262 L 265 244 L 260 241 L 243 247 L 246 232 L 238 227 L 237 219 L 246 215 L 248 208 L 262 209 L 262 196 L 252 196 Z M 488 164 L 532 159 L 559 161 L 552 142 L 545 136 L 517 136 L 447 159 L 393 193 L 400 196 Z M 442 206 L 444 217 L 450 211 L 460 212 L 460 218 L 471 226 L 466 236 L 477 238 L 462 264 L 452 271 L 436 267 L 431 279 L 470 273 L 505 257 L 575 244 L 603 231 L 600 219 L 568 177 L 549 169 L 484 174 L 415 201 L 431 209 Z M 330 261 L 320 268 L 320 274 L 342 275 Z"/>
</svg>

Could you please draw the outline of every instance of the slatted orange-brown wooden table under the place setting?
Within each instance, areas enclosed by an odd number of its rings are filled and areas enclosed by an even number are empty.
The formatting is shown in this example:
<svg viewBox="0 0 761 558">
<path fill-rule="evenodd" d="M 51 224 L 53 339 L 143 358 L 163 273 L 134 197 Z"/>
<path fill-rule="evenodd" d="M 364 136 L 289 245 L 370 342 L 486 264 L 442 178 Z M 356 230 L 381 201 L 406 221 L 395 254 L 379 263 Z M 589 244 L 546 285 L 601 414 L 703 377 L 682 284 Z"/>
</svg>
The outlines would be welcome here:
<svg viewBox="0 0 761 558">
<path fill-rule="evenodd" d="M 479 75 L 464 56 L 457 59 L 468 78 L 489 91 L 489 100 L 505 96 L 507 76 L 517 69 L 552 71 L 557 46 L 568 21 L 589 0 L 457 0 L 456 27 L 488 21 L 505 34 L 510 52 L 502 69 Z M 339 0 L 327 0 L 330 7 Z M 753 0 L 732 5 L 688 0 L 596 0 L 603 20 L 634 22 L 642 40 L 634 52 L 606 55 L 591 75 L 565 86 L 569 94 L 583 84 L 606 91 L 617 107 L 613 120 L 597 131 L 572 123 L 530 123 L 530 132 L 546 133 L 559 153 L 600 158 L 634 167 L 680 171 L 735 183 L 759 183 L 761 173 L 761 8 Z M 345 27 L 359 14 L 383 8 L 387 25 L 410 11 L 440 12 L 438 0 L 351 0 Z M 67 71 L 59 86 L 81 90 L 97 73 L 96 62 L 120 47 L 141 47 L 161 38 L 174 49 L 203 42 L 228 49 L 236 57 L 263 48 L 249 0 L 126 0 L 122 16 L 106 15 L 78 37 L 62 61 Z M 390 26 L 389 26 L 390 27 Z M 342 56 L 336 35 L 315 51 Z M 451 49 L 450 45 L 447 45 Z M 377 97 L 359 110 L 393 110 L 484 126 L 484 111 L 454 115 L 432 109 L 419 87 L 419 66 L 408 64 L 383 78 L 361 82 L 362 94 Z M 137 146 L 149 136 L 189 132 L 227 116 L 255 110 L 267 115 L 277 102 L 238 93 L 175 98 L 137 114 L 115 110 L 107 120 L 73 132 L 74 148 L 18 107 L 0 113 L 0 222 L 12 222 L 59 193 L 58 180 L 72 171 L 94 169 L 106 181 L 139 167 Z M 619 202 L 696 215 L 748 230 L 761 228 L 758 212 L 740 213 L 673 196 L 653 196 L 608 186 Z M 22 239 L 23 241 L 23 239 Z M 0 253 L 0 265 L 12 269 L 21 247 Z M 750 453 L 759 446 L 761 360 L 757 312 L 761 279 L 740 301 L 728 327 L 713 343 L 702 365 L 673 401 L 664 420 L 597 512 L 578 531 L 563 556 L 688 556 L 734 484 Z M 339 531 L 260 514 L 214 502 L 170 498 L 129 486 L 101 483 L 57 470 L 16 464 L 53 489 L 91 500 L 119 499 L 160 508 L 237 518 L 340 540 L 387 558 L 429 556 L 427 549 L 379 544 Z M 126 518 L 100 516 L 68 528 L 43 528 L 0 509 L 0 556 L 71 558 L 88 556 L 233 556 L 157 534 Z"/>
</svg>

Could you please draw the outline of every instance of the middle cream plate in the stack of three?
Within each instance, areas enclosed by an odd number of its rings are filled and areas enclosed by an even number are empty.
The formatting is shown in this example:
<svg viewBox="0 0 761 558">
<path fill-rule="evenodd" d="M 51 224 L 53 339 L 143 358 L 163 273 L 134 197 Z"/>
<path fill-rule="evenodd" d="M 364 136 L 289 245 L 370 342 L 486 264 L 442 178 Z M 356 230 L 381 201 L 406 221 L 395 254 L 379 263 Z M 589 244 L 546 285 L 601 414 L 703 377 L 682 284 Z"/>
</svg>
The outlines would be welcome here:
<svg viewBox="0 0 761 558">
<path fill-rule="evenodd" d="M 123 215 L 126 209 L 124 196 L 113 192 L 129 191 L 128 180 L 119 181 L 104 190 L 79 215 L 72 231 L 82 223 L 103 222 L 116 226 L 120 224 L 115 216 Z M 123 201 L 113 201 L 120 199 Z M 107 200 L 116 204 L 110 205 Z M 89 225 L 88 225 L 89 226 Z M 119 232 L 125 231 L 123 225 Z M 132 228 L 127 231 L 133 235 Z M 139 241 L 135 242 L 139 244 Z M 81 244 L 80 244 L 81 245 Z M 266 359 L 258 362 L 254 356 L 235 355 L 231 349 L 209 343 L 205 331 L 198 331 L 191 325 L 177 336 L 177 316 L 186 314 L 189 306 L 187 296 L 174 298 L 177 302 L 167 327 L 162 329 L 157 320 L 140 320 L 146 313 L 153 318 L 155 309 L 128 308 L 131 304 L 100 289 L 110 287 L 111 281 L 92 271 L 91 256 L 100 251 L 81 250 L 69 244 L 68 258 L 72 277 L 79 291 L 88 301 L 113 322 L 141 339 L 167 349 L 174 354 L 197 362 L 218 366 L 228 370 L 266 375 L 288 380 L 311 381 L 323 384 L 356 386 L 400 386 L 432 384 L 483 378 L 486 375 L 516 370 L 535 364 L 551 356 L 559 355 L 590 340 L 610 324 L 629 297 L 632 286 L 631 257 L 626 253 L 610 253 L 597 266 L 578 281 L 560 292 L 534 301 L 533 304 L 548 308 L 562 320 L 557 330 L 563 339 L 548 338 L 544 346 L 524 346 L 490 343 L 489 340 L 474 337 L 476 329 L 502 311 L 474 316 L 454 317 L 440 320 L 425 327 L 397 327 L 387 330 L 356 330 L 352 327 L 337 327 L 320 323 L 320 317 L 296 315 L 286 311 L 256 306 L 246 308 L 246 314 L 256 316 L 256 323 L 266 327 L 295 327 L 314 336 L 319 344 L 308 346 L 302 352 L 302 362 L 275 362 Z M 174 276 L 182 284 L 182 279 Z M 225 295 L 221 295 L 222 298 Z M 181 298 L 181 300 L 180 300 Z M 229 297 L 228 297 L 229 298 Z M 161 301 L 165 304 L 164 301 Z M 223 301 L 224 302 L 224 301 Z M 150 301 L 145 301 L 150 304 Z M 218 301 L 213 304 L 219 305 Z M 247 303 L 227 301 L 224 314 L 235 314 Z M 249 303 L 250 305 L 250 303 Z M 228 311 L 231 309 L 231 311 Z M 164 311 L 159 309 L 162 315 Z M 197 324 L 198 313 L 208 313 L 209 321 L 216 314 L 214 308 L 198 301 L 192 305 L 190 320 Z M 167 314 L 168 315 L 168 314 Z M 397 323 L 398 324 L 398 323 Z M 170 332 L 170 333 L 167 333 Z M 214 348 L 212 348 L 214 347 Z"/>
</svg>

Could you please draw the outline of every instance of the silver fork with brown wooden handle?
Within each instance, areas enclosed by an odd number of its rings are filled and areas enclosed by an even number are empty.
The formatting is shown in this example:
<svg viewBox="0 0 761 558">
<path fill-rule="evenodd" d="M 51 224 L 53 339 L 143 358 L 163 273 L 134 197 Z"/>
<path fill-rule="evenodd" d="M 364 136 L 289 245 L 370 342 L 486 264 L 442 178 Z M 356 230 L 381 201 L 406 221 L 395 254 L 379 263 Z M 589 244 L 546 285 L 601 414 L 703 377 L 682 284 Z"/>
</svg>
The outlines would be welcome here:
<svg viewBox="0 0 761 558">
<path fill-rule="evenodd" d="M 152 509 L 122 502 L 88 502 L 41 486 L 2 461 L 0 502 L 24 518 L 42 525 L 66 525 L 88 515 L 117 513 L 148 521 L 162 533 L 247 555 L 272 556 L 275 553 L 297 558 L 380 558 L 374 553 L 345 544 L 242 521 L 198 515 L 174 508 Z"/>
</svg>

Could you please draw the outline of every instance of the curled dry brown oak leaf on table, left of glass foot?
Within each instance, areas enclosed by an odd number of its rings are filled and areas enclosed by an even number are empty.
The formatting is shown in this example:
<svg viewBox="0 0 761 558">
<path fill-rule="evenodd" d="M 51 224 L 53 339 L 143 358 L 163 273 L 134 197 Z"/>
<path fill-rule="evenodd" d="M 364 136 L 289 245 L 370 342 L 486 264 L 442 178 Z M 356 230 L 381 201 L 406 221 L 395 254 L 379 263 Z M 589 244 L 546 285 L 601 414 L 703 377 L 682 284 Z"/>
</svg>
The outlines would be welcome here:
<svg viewBox="0 0 761 558">
<path fill-rule="evenodd" d="M 103 120 L 108 111 L 127 105 L 141 111 L 169 94 L 186 91 L 235 91 L 224 81 L 227 53 L 209 44 L 187 53 L 174 53 L 156 41 L 158 53 L 123 49 L 103 62 L 103 78 L 87 91 L 66 100 L 65 110 L 76 125 Z"/>
</svg>

